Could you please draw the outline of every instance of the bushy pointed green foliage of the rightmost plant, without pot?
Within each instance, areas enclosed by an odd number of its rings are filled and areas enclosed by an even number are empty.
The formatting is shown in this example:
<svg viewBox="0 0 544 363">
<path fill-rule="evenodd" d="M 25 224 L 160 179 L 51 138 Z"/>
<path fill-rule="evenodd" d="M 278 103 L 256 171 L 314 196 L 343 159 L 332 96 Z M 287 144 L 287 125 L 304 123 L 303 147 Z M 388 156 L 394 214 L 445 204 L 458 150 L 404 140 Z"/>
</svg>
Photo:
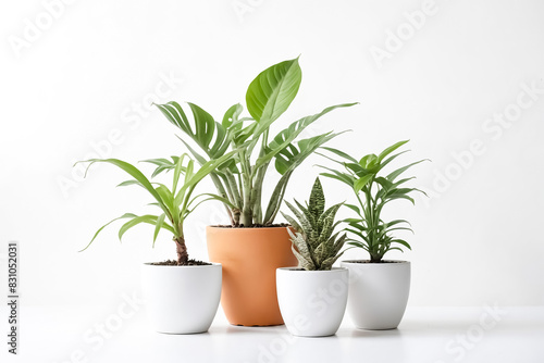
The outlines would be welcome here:
<svg viewBox="0 0 544 363">
<path fill-rule="evenodd" d="M 407 188 L 404 186 L 413 177 L 398 178 L 408 168 L 425 160 L 410 163 L 392 173 L 383 175 L 383 168 L 398 155 L 406 152 L 401 151 L 392 155 L 394 151 L 406 142 L 408 142 L 408 140 L 396 142 L 383 150 L 379 155 L 368 154 L 362 157 L 359 161 L 341 150 L 323 148 L 342 159 L 342 161 L 338 161 L 327 157 L 343 165 L 343 170 L 338 171 L 321 166 L 327 170 L 327 172 L 321 173 L 321 175 L 347 184 L 357 197 L 358 205 L 346 204 L 346 206 L 358 215 L 356 218 L 347 218 L 344 221 L 349 225 L 347 230 L 357 237 L 356 240 L 350 239 L 348 245 L 362 248 L 369 252 L 371 262 L 381 262 L 384 254 L 391 250 L 403 251 L 403 247 L 411 249 L 406 240 L 395 238 L 392 235 L 395 230 L 412 231 L 411 228 L 408 227 L 410 224 L 405 220 L 384 222 L 380 216 L 383 208 L 387 203 L 405 199 L 413 204 L 415 201 L 411 195 L 413 192 L 424 193 L 424 191 L 420 189 Z"/>
</svg>

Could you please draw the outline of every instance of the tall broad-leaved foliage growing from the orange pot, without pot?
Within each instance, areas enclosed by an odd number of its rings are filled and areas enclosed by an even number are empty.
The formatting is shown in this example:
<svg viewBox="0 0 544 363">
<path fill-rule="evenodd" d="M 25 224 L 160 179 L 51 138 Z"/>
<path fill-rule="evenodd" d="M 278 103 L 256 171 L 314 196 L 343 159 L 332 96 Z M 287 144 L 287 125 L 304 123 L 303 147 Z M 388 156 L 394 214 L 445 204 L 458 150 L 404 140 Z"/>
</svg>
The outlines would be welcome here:
<svg viewBox="0 0 544 363">
<path fill-rule="evenodd" d="M 270 126 L 295 99 L 301 75 L 298 59 L 281 62 L 261 72 L 251 82 L 246 93 L 251 117 L 240 117 L 243 107 L 238 103 L 231 107 L 219 123 L 200 107 L 188 103 L 193 114 L 193 122 L 189 122 L 177 102 L 157 104 L 172 124 L 198 145 L 201 152 L 197 152 L 182 139 L 200 164 L 237 149 L 230 162 L 210 173 L 233 226 L 271 225 L 280 211 L 295 168 L 324 142 L 338 135 L 331 132 L 296 141 L 300 133 L 324 114 L 356 104 L 344 103 L 326 108 L 292 123 L 270 137 Z M 271 162 L 274 162 L 281 178 L 263 209 L 262 186 Z"/>
</svg>

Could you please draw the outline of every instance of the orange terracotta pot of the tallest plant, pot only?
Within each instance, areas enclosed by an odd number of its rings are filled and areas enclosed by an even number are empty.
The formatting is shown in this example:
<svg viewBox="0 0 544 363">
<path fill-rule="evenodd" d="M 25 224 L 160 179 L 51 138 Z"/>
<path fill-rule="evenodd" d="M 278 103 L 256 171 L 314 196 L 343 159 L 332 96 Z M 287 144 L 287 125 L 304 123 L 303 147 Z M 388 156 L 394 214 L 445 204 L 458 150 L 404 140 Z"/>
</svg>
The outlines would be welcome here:
<svg viewBox="0 0 544 363">
<path fill-rule="evenodd" d="M 283 324 L 275 271 L 297 265 L 287 228 L 206 228 L 210 261 L 223 266 L 221 305 L 233 325 Z"/>
</svg>

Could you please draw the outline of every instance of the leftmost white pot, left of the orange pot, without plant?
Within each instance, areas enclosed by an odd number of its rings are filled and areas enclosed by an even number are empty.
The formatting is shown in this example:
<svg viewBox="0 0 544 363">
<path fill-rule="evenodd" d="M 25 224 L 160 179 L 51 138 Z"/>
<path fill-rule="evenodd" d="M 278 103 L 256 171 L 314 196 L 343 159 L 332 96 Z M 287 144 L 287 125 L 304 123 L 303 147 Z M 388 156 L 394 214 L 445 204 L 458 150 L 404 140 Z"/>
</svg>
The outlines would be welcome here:
<svg viewBox="0 0 544 363">
<path fill-rule="evenodd" d="M 159 333 L 207 331 L 221 298 L 222 267 L 144 264 L 141 283 L 151 326 Z"/>
</svg>

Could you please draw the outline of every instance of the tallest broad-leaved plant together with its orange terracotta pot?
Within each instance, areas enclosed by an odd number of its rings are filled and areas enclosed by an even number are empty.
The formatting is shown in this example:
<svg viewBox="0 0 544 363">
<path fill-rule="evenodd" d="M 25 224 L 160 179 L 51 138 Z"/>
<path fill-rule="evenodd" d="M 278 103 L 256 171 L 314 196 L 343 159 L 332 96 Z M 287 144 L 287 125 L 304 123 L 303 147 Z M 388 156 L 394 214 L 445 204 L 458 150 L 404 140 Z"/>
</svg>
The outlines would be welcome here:
<svg viewBox="0 0 544 363">
<path fill-rule="evenodd" d="M 210 173 L 231 223 L 207 227 L 210 259 L 223 265 L 221 303 L 228 322 L 234 325 L 283 324 L 275 270 L 295 265 L 296 259 L 290 251 L 288 227 L 274 224 L 274 218 L 295 168 L 337 134 L 331 132 L 306 139 L 300 139 L 299 135 L 326 113 L 356 104 L 329 107 L 293 122 L 276 135 L 269 135 L 270 126 L 295 99 L 300 82 L 298 59 L 272 65 L 247 89 L 250 116 L 240 117 L 243 107 L 235 104 L 226 111 L 221 123 L 194 103 L 188 103 L 191 120 L 176 102 L 157 104 L 166 118 L 199 147 L 197 151 L 182 138 L 199 163 L 237 149 L 230 162 Z M 263 182 L 271 163 L 280 179 L 264 205 Z"/>
</svg>

